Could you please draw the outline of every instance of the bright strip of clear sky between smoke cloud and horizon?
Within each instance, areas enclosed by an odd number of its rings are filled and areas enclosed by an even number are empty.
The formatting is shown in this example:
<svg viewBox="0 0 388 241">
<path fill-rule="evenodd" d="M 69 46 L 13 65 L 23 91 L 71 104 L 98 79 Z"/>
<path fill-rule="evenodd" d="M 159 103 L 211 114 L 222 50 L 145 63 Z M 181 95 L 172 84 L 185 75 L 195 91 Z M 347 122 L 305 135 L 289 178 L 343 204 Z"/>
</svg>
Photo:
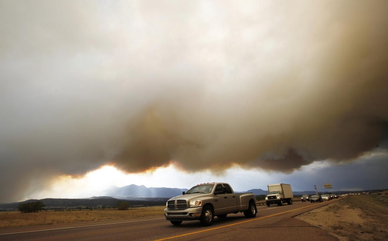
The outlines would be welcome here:
<svg viewBox="0 0 388 241">
<path fill-rule="evenodd" d="M 388 188 L 387 183 L 384 182 L 385 170 L 380 168 L 386 158 L 388 158 L 387 153 L 375 151 L 352 164 L 341 164 L 333 168 L 330 162 L 317 161 L 303 166 L 292 174 L 244 170 L 239 167 L 232 167 L 219 175 L 214 175 L 210 171 L 187 173 L 173 164 L 141 174 L 126 174 L 114 166 L 104 165 L 79 178 L 60 176 L 52 182 L 50 188 L 36 192 L 33 196 L 24 197 L 22 200 L 104 196 L 105 191 L 111 186 L 122 187 L 130 184 L 144 185 L 147 188 L 190 189 L 196 184 L 213 181 L 228 182 L 235 191 L 259 188 L 266 190 L 268 184 L 277 182 L 292 184 L 293 191 L 314 191 L 314 184 L 321 185 L 326 182 L 333 185 L 331 191 Z"/>
</svg>

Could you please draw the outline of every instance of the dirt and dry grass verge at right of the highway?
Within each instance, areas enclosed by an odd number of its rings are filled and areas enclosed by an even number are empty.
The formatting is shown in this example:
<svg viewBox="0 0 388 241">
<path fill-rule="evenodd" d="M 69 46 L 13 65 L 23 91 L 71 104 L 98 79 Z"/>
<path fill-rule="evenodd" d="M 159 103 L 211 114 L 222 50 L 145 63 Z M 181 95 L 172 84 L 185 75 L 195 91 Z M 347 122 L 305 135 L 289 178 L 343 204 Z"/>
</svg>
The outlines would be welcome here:
<svg viewBox="0 0 388 241">
<path fill-rule="evenodd" d="M 340 240 L 388 240 L 388 202 L 374 195 L 349 195 L 296 218 Z"/>
</svg>

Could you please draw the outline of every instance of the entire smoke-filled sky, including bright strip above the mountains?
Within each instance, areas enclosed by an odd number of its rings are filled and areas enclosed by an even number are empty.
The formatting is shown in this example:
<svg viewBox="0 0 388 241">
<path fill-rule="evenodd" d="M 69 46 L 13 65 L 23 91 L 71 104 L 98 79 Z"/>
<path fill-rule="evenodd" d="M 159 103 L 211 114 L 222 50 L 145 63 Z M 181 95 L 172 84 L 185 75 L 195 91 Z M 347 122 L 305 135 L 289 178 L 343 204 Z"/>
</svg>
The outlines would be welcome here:
<svg viewBox="0 0 388 241">
<path fill-rule="evenodd" d="M 0 0 L 0 202 L 386 188 L 387 7 Z"/>
</svg>

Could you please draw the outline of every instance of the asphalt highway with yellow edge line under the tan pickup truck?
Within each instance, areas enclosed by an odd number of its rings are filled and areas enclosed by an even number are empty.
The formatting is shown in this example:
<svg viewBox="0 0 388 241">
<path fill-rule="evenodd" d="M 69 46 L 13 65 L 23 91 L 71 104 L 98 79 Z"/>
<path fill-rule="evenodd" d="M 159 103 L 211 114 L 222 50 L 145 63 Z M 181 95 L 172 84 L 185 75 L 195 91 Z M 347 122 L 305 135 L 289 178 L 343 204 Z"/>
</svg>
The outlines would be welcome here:
<svg viewBox="0 0 388 241">
<path fill-rule="evenodd" d="M 245 218 L 243 213 L 228 214 L 226 219 L 215 217 L 210 227 L 201 226 L 199 221 L 173 226 L 163 216 L 156 216 L 0 229 L 0 240 L 251 240 L 258 237 L 262 227 L 340 200 L 258 206 L 255 218 Z"/>
</svg>

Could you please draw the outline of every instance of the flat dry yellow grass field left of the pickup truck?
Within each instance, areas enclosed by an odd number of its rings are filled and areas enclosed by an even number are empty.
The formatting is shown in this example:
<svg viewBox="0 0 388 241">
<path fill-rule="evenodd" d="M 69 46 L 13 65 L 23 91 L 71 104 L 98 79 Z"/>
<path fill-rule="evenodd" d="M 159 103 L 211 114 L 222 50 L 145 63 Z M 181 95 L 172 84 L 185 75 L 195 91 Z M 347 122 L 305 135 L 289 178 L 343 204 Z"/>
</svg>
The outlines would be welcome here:
<svg viewBox="0 0 388 241">
<path fill-rule="evenodd" d="M 128 210 L 48 211 L 40 213 L 0 212 L 0 228 L 150 217 L 163 215 L 164 208 L 165 206 L 139 207 Z"/>
</svg>

